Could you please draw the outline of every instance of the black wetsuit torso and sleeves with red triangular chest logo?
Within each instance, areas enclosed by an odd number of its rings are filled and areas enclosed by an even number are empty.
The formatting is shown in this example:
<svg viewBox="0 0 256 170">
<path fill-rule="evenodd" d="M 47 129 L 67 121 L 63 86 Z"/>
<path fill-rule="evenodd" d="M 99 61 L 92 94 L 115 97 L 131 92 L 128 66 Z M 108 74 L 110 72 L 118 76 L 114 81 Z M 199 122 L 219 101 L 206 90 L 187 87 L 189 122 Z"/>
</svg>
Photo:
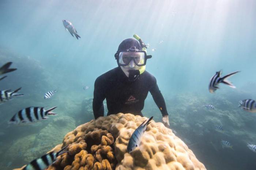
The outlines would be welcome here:
<svg viewBox="0 0 256 170">
<path fill-rule="evenodd" d="M 116 67 L 95 80 L 93 113 L 95 119 L 104 116 L 103 100 L 106 98 L 108 115 L 116 113 L 132 113 L 142 116 L 144 100 L 148 92 L 153 96 L 155 103 L 163 116 L 168 115 L 165 100 L 160 92 L 157 80 L 153 75 L 145 71 L 133 82 Z"/>
</svg>

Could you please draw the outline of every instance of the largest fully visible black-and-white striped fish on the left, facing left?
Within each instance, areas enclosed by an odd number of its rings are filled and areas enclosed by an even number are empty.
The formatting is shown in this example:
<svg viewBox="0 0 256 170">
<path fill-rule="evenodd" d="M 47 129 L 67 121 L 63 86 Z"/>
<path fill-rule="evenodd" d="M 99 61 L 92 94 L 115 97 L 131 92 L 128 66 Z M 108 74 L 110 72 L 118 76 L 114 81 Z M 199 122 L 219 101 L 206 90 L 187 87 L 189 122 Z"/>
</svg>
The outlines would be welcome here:
<svg viewBox="0 0 256 170">
<path fill-rule="evenodd" d="M 30 124 L 45 120 L 48 118 L 46 117 L 47 115 L 57 115 L 56 113 L 50 112 L 55 108 L 57 108 L 57 106 L 45 111 L 44 107 L 27 107 L 12 116 L 9 124 Z"/>
</svg>

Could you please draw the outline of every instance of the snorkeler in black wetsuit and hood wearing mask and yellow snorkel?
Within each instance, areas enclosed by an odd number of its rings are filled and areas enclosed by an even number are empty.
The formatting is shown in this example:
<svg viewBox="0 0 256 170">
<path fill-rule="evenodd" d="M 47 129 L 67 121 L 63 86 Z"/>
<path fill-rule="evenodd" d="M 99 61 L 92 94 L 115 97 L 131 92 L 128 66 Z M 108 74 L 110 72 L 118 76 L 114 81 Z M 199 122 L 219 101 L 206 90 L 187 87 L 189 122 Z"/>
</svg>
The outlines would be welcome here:
<svg viewBox="0 0 256 170">
<path fill-rule="evenodd" d="M 165 100 L 160 92 L 156 78 L 145 71 L 146 61 L 151 55 L 146 54 L 146 45 L 136 39 L 123 40 L 114 57 L 118 67 L 102 74 L 95 80 L 93 113 L 95 119 L 104 116 L 103 100 L 106 98 L 108 114 L 132 113 L 142 115 L 144 100 L 148 92 L 162 113 L 162 123 L 169 127 L 169 118 Z"/>
</svg>

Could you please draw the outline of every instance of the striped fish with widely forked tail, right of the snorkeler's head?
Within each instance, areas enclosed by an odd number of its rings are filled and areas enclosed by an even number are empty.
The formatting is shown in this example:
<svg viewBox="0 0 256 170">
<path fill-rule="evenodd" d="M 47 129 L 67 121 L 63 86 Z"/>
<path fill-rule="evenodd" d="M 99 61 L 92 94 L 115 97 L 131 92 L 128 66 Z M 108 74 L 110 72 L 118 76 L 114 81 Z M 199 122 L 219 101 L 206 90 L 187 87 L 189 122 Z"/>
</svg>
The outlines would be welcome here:
<svg viewBox="0 0 256 170">
<path fill-rule="evenodd" d="M 239 71 L 238 71 L 239 72 Z M 219 89 L 218 87 L 218 84 L 219 83 L 223 83 L 223 84 L 226 84 L 226 85 L 229 85 L 231 88 L 236 88 L 230 81 L 226 80 L 228 77 L 238 73 L 238 72 L 234 72 L 234 73 L 230 73 L 230 74 L 227 74 L 226 76 L 224 77 L 221 77 L 221 71 L 219 72 L 216 72 L 216 74 L 214 76 L 211 77 L 210 79 L 210 84 L 208 86 L 209 88 L 209 92 L 210 93 L 214 93 L 215 90 Z"/>
</svg>

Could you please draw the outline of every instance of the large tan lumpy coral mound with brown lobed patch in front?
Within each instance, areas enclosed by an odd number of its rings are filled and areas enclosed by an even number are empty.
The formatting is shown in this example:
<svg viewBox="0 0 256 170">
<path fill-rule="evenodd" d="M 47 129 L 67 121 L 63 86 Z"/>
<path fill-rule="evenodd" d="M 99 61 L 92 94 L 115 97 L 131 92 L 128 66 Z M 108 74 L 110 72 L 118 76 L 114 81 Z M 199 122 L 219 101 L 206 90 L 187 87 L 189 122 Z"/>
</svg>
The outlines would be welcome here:
<svg viewBox="0 0 256 170">
<path fill-rule="evenodd" d="M 129 138 L 144 120 L 147 118 L 118 113 L 79 125 L 51 150 L 69 145 L 68 152 L 48 170 L 206 170 L 172 130 L 154 120 L 140 146 L 129 154 Z"/>
</svg>

